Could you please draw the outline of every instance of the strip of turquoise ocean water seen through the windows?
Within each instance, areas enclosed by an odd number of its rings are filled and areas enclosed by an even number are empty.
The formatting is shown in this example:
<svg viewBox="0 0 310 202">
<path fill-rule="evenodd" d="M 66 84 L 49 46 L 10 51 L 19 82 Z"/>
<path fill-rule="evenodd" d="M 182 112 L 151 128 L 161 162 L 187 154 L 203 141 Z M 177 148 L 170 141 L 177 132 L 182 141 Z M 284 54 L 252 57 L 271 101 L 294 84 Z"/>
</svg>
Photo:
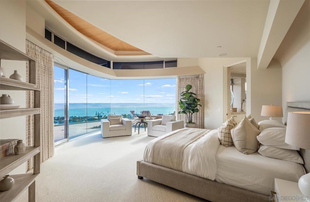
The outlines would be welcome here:
<svg viewBox="0 0 310 202">
<path fill-rule="evenodd" d="M 64 104 L 54 104 L 54 117 L 64 116 Z M 175 111 L 175 103 L 69 103 L 69 117 L 84 117 L 98 115 L 131 115 L 130 111 L 140 114 L 143 110 L 149 110 L 152 115 L 172 114 Z"/>
</svg>

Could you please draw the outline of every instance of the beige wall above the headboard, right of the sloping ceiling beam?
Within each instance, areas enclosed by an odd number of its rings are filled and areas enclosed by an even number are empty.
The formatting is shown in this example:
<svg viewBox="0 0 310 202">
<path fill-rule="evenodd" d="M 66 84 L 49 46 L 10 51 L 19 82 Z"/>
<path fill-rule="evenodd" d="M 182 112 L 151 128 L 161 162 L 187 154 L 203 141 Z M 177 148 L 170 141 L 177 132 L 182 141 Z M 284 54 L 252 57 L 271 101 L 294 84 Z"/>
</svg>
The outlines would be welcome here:
<svg viewBox="0 0 310 202">
<path fill-rule="evenodd" d="M 275 58 L 282 65 L 282 105 L 310 101 L 310 0 L 306 0 Z"/>
</svg>

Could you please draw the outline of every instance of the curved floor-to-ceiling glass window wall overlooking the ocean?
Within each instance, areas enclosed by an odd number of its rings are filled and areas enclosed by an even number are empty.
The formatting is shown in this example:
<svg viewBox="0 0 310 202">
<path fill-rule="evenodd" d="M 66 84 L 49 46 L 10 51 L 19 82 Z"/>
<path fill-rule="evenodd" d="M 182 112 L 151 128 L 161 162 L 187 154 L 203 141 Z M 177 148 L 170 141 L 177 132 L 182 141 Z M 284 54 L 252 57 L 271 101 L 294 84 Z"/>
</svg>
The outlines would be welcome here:
<svg viewBox="0 0 310 202">
<path fill-rule="evenodd" d="M 100 130 L 101 119 L 109 114 L 132 119 L 130 111 L 136 115 L 143 110 L 152 115 L 175 111 L 175 78 L 110 80 L 58 66 L 54 66 L 55 142 Z"/>
</svg>

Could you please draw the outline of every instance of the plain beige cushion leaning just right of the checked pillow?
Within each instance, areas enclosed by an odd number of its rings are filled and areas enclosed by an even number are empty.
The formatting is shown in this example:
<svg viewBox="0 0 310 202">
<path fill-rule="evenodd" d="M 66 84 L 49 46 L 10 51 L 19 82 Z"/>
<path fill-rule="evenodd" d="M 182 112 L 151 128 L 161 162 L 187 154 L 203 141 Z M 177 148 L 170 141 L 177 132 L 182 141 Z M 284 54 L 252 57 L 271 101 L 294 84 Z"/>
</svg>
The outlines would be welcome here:
<svg viewBox="0 0 310 202">
<path fill-rule="evenodd" d="M 244 154 L 253 154 L 258 149 L 257 135 L 260 130 L 255 128 L 247 117 L 231 130 L 233 144 L 238 151 Z"/>
</svg>

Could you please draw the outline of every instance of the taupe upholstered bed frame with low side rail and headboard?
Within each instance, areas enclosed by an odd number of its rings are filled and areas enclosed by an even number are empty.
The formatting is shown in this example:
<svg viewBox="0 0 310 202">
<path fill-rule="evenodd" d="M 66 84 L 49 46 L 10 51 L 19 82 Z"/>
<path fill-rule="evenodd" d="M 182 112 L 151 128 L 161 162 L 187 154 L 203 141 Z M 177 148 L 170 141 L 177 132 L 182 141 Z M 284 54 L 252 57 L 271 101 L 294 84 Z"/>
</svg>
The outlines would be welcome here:
<svg viewBox="0 0 310 202">
<path fill-rule="evenodd" d="M 285 123 L 288 112 L 310 111 L 310 102 L 288 102 L 287 106 L 286 115 L 284 116 Z M 299 153 L 304 159 L 304 167 L 307 173 L 309 173 L 310 150 L 301 149 Z M 143 160 L 137 161 L 137 175 L 139 179 L 145 177 L 211 202 L 270 202 L 269 196 L 261 193 L 218 183 L 202 177 L 148 163 Z"/>
</svg>

